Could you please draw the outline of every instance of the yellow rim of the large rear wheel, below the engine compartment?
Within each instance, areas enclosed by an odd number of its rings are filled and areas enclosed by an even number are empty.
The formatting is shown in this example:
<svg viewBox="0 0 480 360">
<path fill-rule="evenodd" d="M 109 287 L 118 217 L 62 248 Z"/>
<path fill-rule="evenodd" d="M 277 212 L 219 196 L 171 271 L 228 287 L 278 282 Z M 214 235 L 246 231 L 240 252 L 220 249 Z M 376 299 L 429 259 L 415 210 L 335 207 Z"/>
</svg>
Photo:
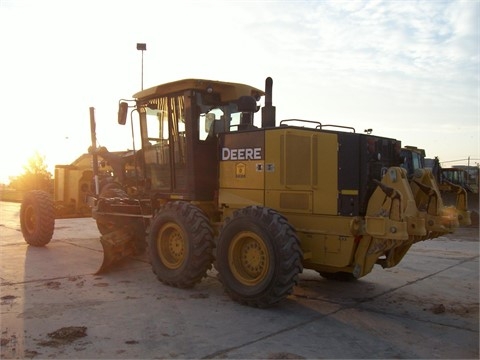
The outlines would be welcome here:
<svg viewBox="0 0 480 360">
<path fill-rule="evenodd" d="M 233 276 L 243 285 L 257 285 L 267 276 L 270 257 L 260 236 L 244 231 L 237 234 L 228 249 Z"/>
</svg>

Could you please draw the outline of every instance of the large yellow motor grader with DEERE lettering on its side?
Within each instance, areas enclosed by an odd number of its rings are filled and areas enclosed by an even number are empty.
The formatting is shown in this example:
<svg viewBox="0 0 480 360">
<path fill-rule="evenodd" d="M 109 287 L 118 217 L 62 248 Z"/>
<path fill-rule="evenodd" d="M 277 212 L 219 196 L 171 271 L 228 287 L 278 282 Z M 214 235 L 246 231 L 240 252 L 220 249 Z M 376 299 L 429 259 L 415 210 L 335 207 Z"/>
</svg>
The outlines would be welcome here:
<svg viewBox="0 0 480 360">
<path fill-rule="evenodd" d="M 213 265 L 233 300 L 268 307 L 304 268 L 358 279 L 459 225 L 431 179 L 417 184 L 429 206 L 417 202 L 400 141 L 314 120 L 277 126 L 271 78 L 265 90 L 184 79 L 133 98 L 118 122 L 138 124 L 134 179 L 96 181 L 90 197 L 100 271 L 147 248 L 165 284 L 192 287 Z"/>
</svg>

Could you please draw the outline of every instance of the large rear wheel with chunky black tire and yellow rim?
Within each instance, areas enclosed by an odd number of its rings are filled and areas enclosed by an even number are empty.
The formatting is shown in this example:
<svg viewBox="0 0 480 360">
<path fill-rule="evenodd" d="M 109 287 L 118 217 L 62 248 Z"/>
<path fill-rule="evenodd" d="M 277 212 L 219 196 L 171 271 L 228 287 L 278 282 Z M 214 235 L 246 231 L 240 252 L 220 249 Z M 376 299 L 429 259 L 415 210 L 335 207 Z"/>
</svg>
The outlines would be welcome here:
<svg viewBox="0 0 480 360">
<path fill-rule="evenodd" d="M 220 230 L 215 266 L 227 294 L 241 304 L 265 308 L 286 298 L 302 260 L 295 230 L 272 209 L 236 210 Z"/>
</svg>

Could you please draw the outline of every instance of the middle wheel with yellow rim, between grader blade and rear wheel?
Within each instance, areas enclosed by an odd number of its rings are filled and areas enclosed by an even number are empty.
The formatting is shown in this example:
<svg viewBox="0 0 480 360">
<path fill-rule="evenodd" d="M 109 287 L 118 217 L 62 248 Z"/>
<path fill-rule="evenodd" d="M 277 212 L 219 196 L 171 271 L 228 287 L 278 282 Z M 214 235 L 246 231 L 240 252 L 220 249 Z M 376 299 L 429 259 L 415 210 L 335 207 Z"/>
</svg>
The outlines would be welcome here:
<svg viewBox="0 0 480 360">
<path fill-rule="evenodd" d="M 198 207 L 174 201 L 153 219 L 148 247 L 152 270 L 164 284 L 190 288 L 213 263 L 213 229 Z"/>
</svg>

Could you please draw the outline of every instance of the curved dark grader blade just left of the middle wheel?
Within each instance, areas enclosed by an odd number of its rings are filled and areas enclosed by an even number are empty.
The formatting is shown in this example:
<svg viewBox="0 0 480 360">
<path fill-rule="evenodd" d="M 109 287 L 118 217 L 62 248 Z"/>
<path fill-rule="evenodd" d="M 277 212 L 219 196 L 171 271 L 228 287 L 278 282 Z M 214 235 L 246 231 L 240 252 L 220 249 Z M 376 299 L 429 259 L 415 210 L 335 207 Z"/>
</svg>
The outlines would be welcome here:
<svg viewBox="0 0 480 360">
<path fill-rule="evenodd" d="M 112 265 L 135 254 L 134 237 L 128 229 L 119 229 L 100 237 L 103 247 L 102 266 L 95 275 L 108 271 Z"/>
</svg>

